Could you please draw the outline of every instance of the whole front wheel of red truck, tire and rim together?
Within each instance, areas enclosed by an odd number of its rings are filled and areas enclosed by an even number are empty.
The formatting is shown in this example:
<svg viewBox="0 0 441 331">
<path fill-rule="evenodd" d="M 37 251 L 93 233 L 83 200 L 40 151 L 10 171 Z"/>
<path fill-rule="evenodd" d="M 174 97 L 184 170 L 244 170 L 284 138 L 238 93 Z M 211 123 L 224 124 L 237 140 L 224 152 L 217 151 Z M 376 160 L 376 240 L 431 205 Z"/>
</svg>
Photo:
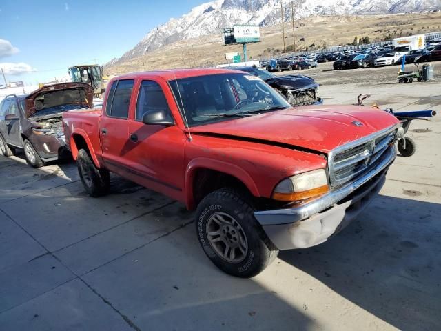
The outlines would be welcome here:
<svg viewBox="0 0 441 331">
<path fill-rule="evenodd" d="M 196 211 L 196 233 L 207 257 L 223 272 L 249 278 L 276 259 L 278 250 L 254 219 L 252 205 L 222 188 L 205 197 Z"/>
</svg>

